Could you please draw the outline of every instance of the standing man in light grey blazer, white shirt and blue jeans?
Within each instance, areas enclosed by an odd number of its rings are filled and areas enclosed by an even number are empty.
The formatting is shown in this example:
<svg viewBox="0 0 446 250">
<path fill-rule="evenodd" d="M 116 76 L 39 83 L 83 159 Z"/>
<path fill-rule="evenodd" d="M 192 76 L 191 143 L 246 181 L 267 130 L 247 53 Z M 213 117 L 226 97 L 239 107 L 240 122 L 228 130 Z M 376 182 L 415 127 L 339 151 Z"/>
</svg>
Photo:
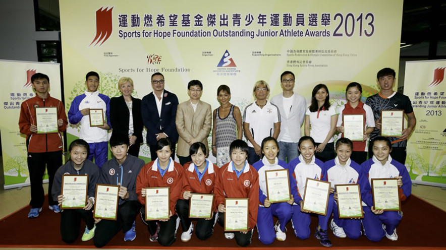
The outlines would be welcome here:
<svg viewBox="0 0 446 250">
<path fill-rule="evenodd" d="M 277 158 L 288 162 L 299 156 L 297 143 L 301 138 L 300 128 L 307 108 L 305 98 L 293 92 L 294 79 L 293 72 L 282 73 L 281 86 L 284 92 L 271 98 L 271 103 L 278 107 L 282 116 L 281 133 L 277 138 L 280 148 Z"/>
</svg>

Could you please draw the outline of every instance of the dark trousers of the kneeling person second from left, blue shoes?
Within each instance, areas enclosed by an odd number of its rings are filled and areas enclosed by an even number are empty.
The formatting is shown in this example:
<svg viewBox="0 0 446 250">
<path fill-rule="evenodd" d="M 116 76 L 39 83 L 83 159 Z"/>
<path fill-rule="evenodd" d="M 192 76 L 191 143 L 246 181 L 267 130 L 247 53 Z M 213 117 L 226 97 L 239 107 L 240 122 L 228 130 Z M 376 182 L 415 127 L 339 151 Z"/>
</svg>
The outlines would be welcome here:
<svg viewBox="0 0 446 250">
<path fill-rule="evenodd" d="M 102 219 L 96 224 L 93 243 L 96 247 L 106 245 L 112 238 L 122 230 L 124 233 L 132 228 L 138 210 L 141 207 L 138 201 L 126 201 L 118 205 L 117 220 Z"/>
</svg>

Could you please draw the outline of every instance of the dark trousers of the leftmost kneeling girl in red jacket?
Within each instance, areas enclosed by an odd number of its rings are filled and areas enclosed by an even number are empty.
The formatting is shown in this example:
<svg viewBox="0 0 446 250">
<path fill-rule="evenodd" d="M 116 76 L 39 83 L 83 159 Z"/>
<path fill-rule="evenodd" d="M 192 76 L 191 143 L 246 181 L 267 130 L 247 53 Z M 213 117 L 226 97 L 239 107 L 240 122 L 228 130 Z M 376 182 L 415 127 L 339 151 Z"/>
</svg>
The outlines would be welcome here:
<svg viewBox="0 0 446 250">
<path fill-rule="evenodd" d="M 159 220 L 145 220 L 145 208 L 141 208 L 141 219 L 144 224 L 147 225 L 150 235 L 155 235 L 158 230 L 158 243 L 160 245 L 169 246 L 172 245 L 177 239 L 177 229 L 180 223 L 177 215 L 172 215 L 168 221 Z M 177 221 L 178 219 L 178 221 Z"/>
</svg>

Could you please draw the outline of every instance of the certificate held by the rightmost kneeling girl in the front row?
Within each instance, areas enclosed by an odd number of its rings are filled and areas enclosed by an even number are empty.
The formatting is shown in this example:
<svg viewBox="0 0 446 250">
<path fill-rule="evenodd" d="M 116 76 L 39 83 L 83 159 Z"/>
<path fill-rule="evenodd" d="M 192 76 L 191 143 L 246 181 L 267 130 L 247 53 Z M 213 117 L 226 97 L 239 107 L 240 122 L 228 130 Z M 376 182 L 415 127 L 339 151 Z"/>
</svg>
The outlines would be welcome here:
<svg viewBox="0 0 446 250">
<path fill-rule="evenodd" d="M 397 179 L 372 179 L 373 207 L 384 211 L 401 211 Z"/>
</svg>

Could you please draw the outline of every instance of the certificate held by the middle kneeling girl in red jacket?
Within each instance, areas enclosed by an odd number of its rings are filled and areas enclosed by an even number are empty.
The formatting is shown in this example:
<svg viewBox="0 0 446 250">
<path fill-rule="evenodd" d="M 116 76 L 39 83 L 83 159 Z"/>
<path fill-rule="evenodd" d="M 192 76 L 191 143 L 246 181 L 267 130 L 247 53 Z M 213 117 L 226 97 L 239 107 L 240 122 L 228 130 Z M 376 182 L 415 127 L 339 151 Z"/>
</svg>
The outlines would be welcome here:
<svg viewBox="0 0 446 250">
<path fill-rule="evenodd" d="M 212 218 L 215 195 L 191 194 L 189 199 L 189 218 Z"/>
</svg>

